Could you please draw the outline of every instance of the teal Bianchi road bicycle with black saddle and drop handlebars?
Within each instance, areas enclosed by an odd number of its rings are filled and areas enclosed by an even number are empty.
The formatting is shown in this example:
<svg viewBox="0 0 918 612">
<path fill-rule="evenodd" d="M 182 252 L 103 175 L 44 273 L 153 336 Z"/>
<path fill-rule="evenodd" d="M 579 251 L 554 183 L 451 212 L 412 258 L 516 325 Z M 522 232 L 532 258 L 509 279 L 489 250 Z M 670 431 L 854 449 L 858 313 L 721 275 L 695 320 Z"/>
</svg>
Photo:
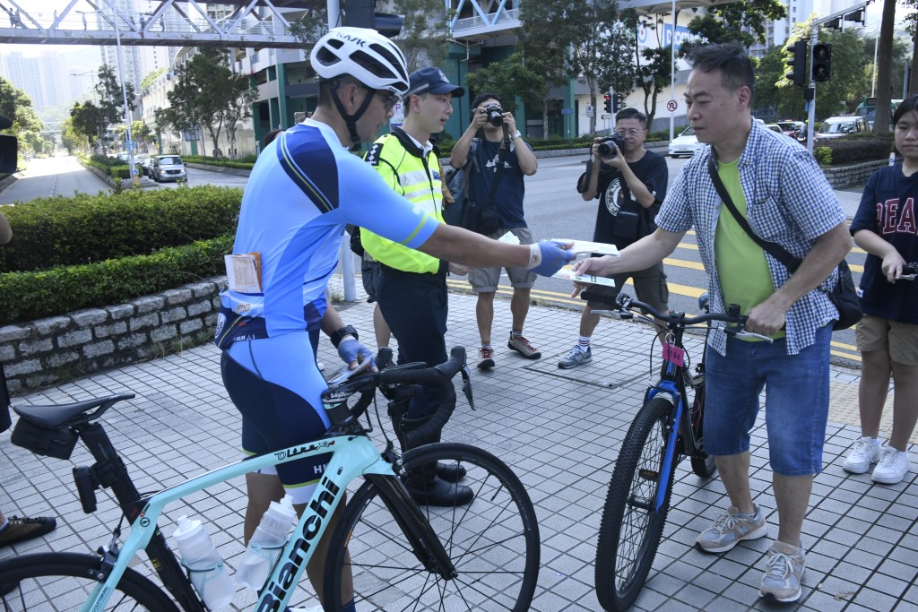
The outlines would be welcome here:
<svg viewBox="0 0 918 612">
<path fill-rule="evenodd" d="M 381 351 L 377 359 L 388 362 L 391 353 Z M 207 607 L 160 530 L 166 506 L 254 470 L 328 453 L 330 461 L 316 492 L 253 609 L 285 610 L 319 603 L 304 570 L 329 518 L 342 505 L 341 519 L 330 532 L 322 584 L 320 603 L 326 611 L 341 610 L 342 581 L 348 575 L 353 575 L 353 596 L 360 612 L 529 609 L 539 573 L 539 529 L 532 501 L 509 467 L 493 454 L 465 444 L 429 444 L 399 455 L 387 436 L 382 452 L 369 438 L 372 414 L 382 428 L 378 408 L 367 411 L 375 405 L 377 389 L 391 401 L 418 393 L 420 384 L 440 386 L 442 406 L 427 424 L 439 428 L 455 405 L 453 377 L 459 372 L 471 402 L 462 347 L 453 349 L 448 362 L 433 368 L 412 363 L 356 375 L 323 395 L 333 423 L 325 435 L 231 463 L 153 494 L 135 488 L 99 420 L 106 410 L 134 395 L 58 406 L 14 406 L 19 416 L 14 443 L 69 459 L 76 441 L 82 440 L 95 459 L 90 467 L 73 469 L 84 512 L 95 512 L 95 492 L 110 488 L 123 517 L 95 554 L 45 552 L 0 562 L 0 583 L 16 584 L 0 598 L 0 609 L 203 612 Z M 407 434 L 409 446 L 412 435 L 424 436 L 425 431 Z M 465 468 L 462 483 L 472 488 L 474 499 L 465 506 L 419 506 L 403 479 L 408 471 L 432 462 Z M 363 483 L 354 484 L 346 501 L 348 485 L 360 476 Z M 148 562 L 140 558 L 140 551 Z M 240 559 L 238 554 L 224 557 L 224 562 L 232 566 Z M 237 593 L 236 599 L 240 598 Z"/>
</svg>

